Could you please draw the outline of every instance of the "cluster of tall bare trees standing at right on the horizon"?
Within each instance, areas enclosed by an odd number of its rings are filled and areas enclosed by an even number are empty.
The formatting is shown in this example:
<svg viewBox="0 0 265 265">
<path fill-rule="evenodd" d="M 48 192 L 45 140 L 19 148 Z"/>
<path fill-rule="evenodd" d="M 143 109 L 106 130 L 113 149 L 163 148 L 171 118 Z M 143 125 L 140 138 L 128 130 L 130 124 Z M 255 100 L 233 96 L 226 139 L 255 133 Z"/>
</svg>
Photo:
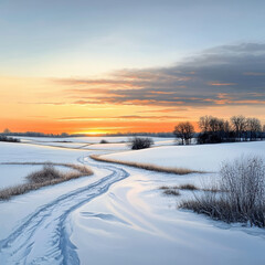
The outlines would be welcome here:
<svg viewBox="0 0 265 265">
<path fill-rule="evenodd" d="M 198 144 L 257 140 L 265 135 L 265 125 L 262 127 L 259 119 L 242 115 L 233 116 L 230 120 L 203 116 L 200 117 L 198 125 L 201 129 L 197 137 Z M 179 123 L 173 134 L 181 139 L 182 145 L 189 145 L 195 135 L 194 126 L 190 121 Z"/>
</svg>

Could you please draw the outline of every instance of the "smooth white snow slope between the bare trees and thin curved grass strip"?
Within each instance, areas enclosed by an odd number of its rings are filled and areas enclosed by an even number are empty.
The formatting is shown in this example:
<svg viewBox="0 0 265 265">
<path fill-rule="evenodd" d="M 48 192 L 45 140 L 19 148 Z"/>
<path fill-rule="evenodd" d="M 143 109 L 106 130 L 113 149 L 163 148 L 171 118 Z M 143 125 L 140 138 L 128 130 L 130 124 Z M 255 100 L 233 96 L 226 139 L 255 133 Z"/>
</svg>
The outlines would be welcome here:
<svg viewBox="0 0 265 265">
<path fill-rule="evenodd" d="M 241 156 L 265 158 L 265 141 L 153 147 L 102 157 L 168 168 L 218 171 L 223 161 L 231 161 Z"/>
</svg>

